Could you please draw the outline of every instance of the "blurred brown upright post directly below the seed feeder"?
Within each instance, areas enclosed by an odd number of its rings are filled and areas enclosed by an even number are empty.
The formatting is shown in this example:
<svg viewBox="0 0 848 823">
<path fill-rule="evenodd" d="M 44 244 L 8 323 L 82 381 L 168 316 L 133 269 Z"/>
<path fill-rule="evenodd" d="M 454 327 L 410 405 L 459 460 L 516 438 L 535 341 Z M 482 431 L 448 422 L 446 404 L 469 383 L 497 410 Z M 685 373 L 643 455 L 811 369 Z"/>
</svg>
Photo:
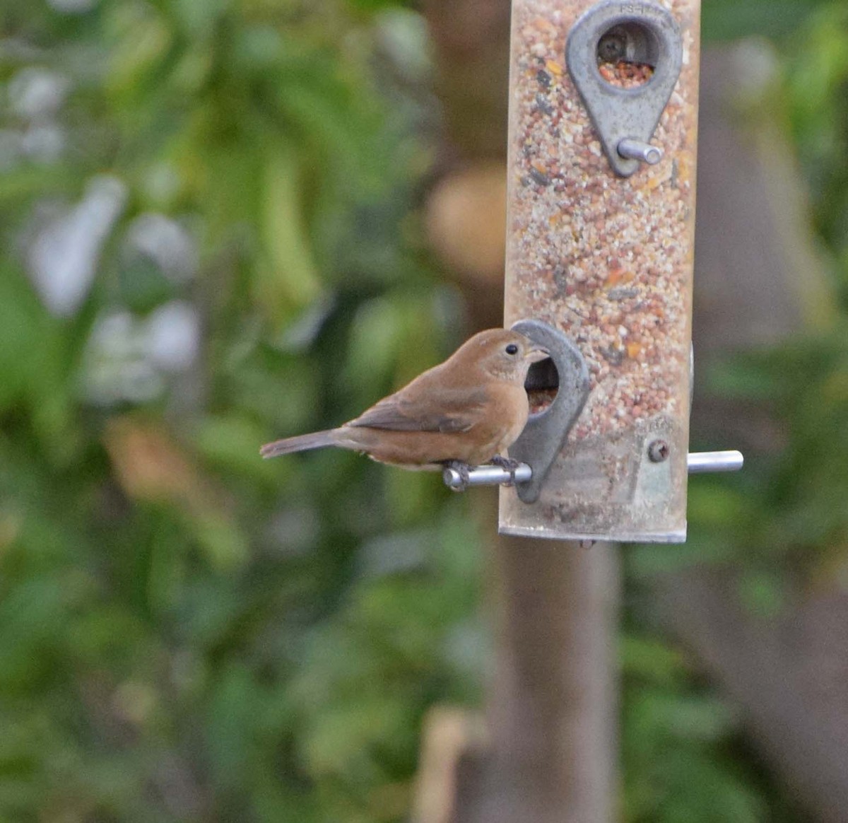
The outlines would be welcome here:
<svg viewBox="0 0 848 823">
<path fill-rule="evenodd" d="M 492 759 L 462 823 L 606 823 L 616 776 L 616 546 L 500 537 Z"/>
</svg>

